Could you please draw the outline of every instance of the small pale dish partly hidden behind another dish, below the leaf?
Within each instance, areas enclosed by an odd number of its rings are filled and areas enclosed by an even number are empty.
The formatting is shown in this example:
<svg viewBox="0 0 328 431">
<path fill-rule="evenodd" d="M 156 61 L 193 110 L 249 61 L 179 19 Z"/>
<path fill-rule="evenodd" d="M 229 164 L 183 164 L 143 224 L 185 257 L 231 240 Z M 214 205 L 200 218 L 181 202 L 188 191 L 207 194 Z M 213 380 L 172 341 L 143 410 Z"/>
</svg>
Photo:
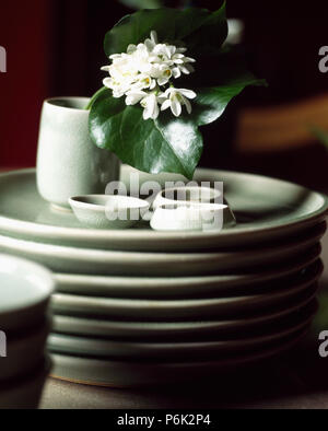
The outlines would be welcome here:
<svg viewBox="0 0 328 431">
<path fill-rule="evenodd" d="M 157 194 L 153 202 L 153 209 L 161 205 L 172 203 L 224 203 L 222 191 L 211 187 L 172 187 L 165 188 Z"/>
</svg>

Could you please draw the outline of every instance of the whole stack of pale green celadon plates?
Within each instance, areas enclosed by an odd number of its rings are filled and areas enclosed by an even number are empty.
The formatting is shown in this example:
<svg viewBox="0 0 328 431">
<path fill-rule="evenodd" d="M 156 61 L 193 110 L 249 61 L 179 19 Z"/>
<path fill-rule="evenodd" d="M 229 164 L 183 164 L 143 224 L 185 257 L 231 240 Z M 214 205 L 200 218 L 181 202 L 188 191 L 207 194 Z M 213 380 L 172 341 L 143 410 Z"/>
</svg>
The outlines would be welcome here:
<svg viewBox="0 0 328 431">
<path fill-rule="evenodd" d="M 307 331 L 327 198 L 248 174 L 198 170 L 196 179 L 224 183 L 236 226 L 85 229 L 38 196 L 35 171 L 0 176 L 0 251 L 56 272 L 55 376 L 121 387 L 190 381 L 272 357 Z"/>
</svg>

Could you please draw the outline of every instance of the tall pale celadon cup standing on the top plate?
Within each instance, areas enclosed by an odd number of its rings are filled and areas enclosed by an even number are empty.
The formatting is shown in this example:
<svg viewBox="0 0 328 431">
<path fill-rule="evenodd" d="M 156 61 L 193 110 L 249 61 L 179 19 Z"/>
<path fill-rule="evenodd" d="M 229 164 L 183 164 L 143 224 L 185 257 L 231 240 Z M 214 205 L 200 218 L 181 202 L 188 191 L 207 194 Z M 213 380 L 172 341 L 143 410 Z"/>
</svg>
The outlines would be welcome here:
<svg viewBox="0 0 328 431">
<path fill-rule="evenodd" d="M 71 196 L 104 194 L 119 178 L 119 160 L 89 136 L 86 97 L 45 101 L 42 112 L 37 188 L 55 207 L 70 210 Z"/>
</svg>

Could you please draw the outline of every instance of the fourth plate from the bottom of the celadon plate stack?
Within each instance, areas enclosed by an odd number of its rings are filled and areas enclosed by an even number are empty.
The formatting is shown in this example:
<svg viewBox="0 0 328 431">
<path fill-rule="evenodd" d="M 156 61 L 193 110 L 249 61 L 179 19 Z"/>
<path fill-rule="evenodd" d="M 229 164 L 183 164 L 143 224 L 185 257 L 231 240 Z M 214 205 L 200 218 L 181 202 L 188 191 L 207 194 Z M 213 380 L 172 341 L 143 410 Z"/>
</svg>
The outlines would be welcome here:
<svg viewBox="0 0 328 431">
<path fill-rule="evenodd" d="M 129 300 L 69 295 L 56 293 L 51 299 L 51 308 L 55 314 L 69 316 L 103 316 L 121 319 L 172 321 L 184 318 L 204 318 L 208 316 L 233 315 L 235 318 L 242 312 L 263 308 L 279 304 L 288 298 L 315 284 L 323 272 L 323 264 L 316 263 L 308 270 L 302 281 L 294 284 L 282 286 L 270 292 L 244 295 L 214 298 L 204 300 Z M 316 289 L 314 287 L 314 289 Z"/>
</svg>

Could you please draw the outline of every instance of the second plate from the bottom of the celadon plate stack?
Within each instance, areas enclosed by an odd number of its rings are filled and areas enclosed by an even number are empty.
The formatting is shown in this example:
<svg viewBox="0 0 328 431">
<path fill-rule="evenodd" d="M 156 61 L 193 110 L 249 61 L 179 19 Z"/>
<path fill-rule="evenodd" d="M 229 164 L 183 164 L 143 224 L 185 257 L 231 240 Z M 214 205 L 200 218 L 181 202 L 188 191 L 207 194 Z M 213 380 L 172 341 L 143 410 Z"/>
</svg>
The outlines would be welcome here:
<svg viewBox="0 0 328 431">
<path fill-rule="evenodd" d="M 311 307 L 293 319 L 277 324 L 274 329 L 257 330 L 253 337 L 241 333 L 238 338 L 216 338 L 214 341 L 161 342 L 162 340 L 157 340 L 157 342 L 138 342 L 50 334 L 48 349 L 55 353 L 127 360 L 177 361 L 186 358 L 189 361 L 213 360 L 222 354 L 262 348 L 270 342 L 288 337 L 308 326 L 315 312 L 316 308 Z"/>
</svg>

